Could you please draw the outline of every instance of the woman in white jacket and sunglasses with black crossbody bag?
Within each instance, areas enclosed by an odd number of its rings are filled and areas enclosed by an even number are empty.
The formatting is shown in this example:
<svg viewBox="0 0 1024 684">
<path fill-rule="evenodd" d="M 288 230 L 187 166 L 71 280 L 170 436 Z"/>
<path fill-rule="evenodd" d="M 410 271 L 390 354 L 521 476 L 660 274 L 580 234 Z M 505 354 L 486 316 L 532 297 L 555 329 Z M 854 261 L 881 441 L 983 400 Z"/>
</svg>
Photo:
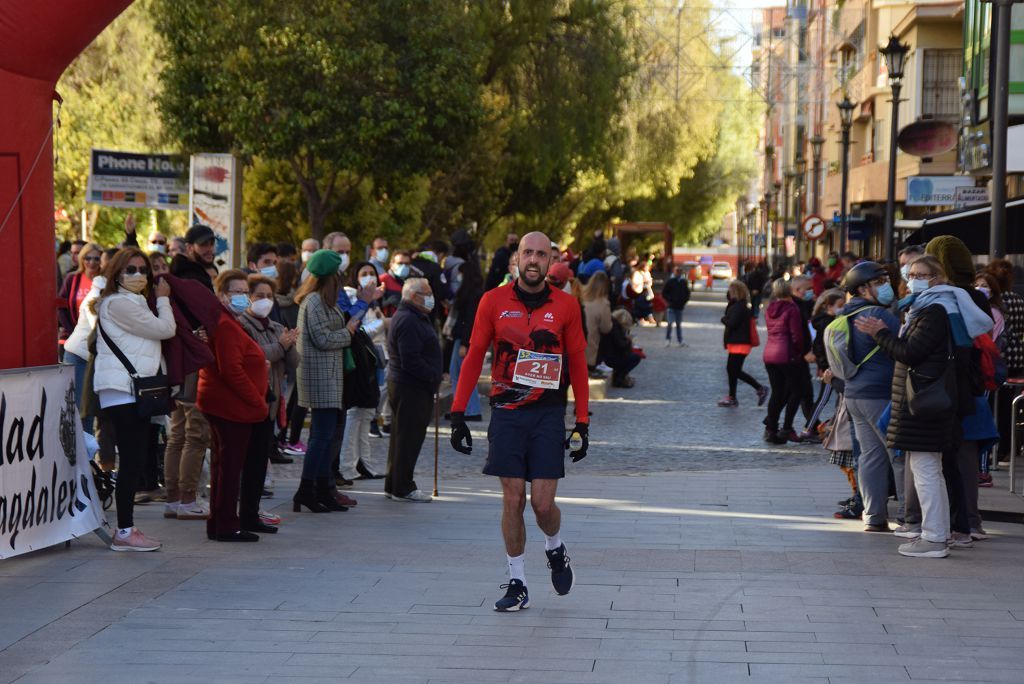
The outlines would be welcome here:
<svg viewBox="0 0 1024 684">
<path fill-rule="evenodd" d="M 156 314 L 150 308 L 151 293 L 156 297 Z M 114 551 L 156 551 L 160 542 L 134 526 L 135 489 L 148 448 L 150 418 L 138 415 L 132 377 L 111 343 L 131 359 L 139 377 L 157 375 L 164 366 L 161 342 L 174 337 L 175 331 L 170 294 L 166 280 L 154 285 L 145 254 L 127 247 L 108 264 L 106 285 L 94 305 L 102 334 L 96 337 L 92 384 L 103 417 L 114 426 L 118 446 L 118 530 L 111 544 Z"/>
</svg>

